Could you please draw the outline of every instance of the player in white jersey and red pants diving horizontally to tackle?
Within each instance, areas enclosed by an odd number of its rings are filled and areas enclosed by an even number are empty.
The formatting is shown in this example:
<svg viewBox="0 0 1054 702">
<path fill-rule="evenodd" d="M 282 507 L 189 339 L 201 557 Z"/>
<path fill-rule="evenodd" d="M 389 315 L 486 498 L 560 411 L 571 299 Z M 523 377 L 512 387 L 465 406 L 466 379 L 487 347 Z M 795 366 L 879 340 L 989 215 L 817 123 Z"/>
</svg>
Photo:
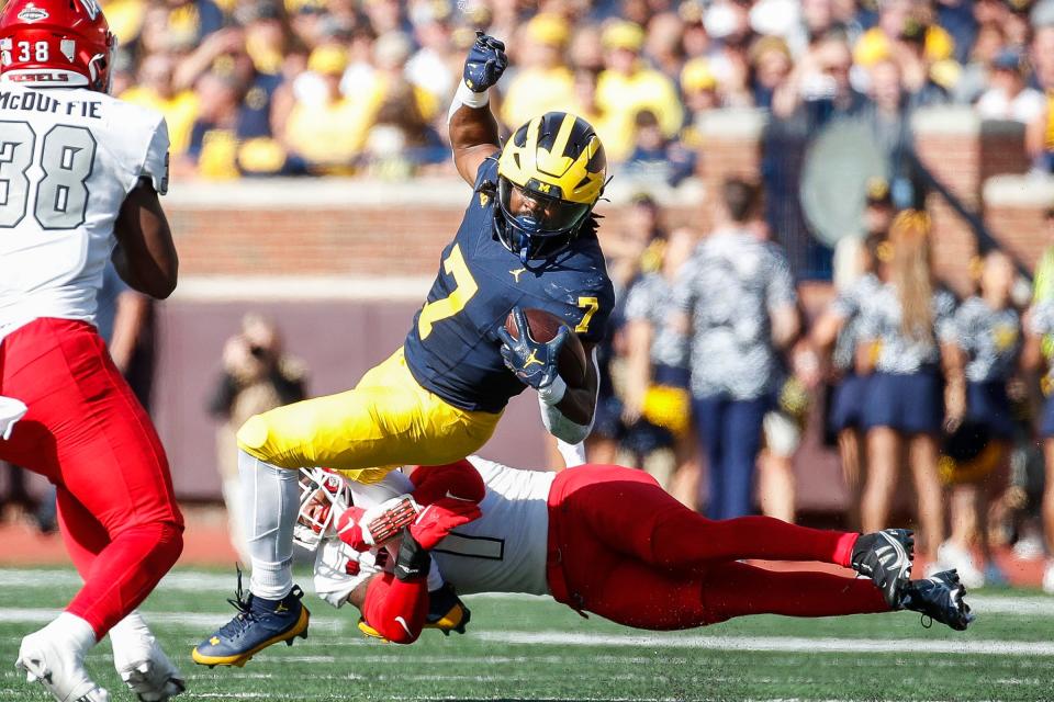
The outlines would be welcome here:
<svg viewBox="0 0 1054 702">
<path fill-rule="evenodd" d="M 359 608 L 365 633 L 396 643 L 421 634 L 435 590 L 426 586 L 431 564 L 460 595 L 551 595 L 580 613 L 646 630 L 745 614 L 905 609 L 956 630 L 973 620 L 954 570 L 906 579 L 910 532 L 861 535 L 767 517 L 711 521 L 642 471 L 588 464 L 520 471 L 471 456 L 408 479 L 393 473 L 369 489 L 348 485 L 346 509 L 327 490 L 302 501 L 301 522 L 321 536 L 315 589 L 330 604 Z M 378 558 L 383 550 L 388 557 Z M 777 573 L 743 558 L 820 561 L 870 579 Z M 898 587 L 889 588 L 890 580 Z"/>
</svg>

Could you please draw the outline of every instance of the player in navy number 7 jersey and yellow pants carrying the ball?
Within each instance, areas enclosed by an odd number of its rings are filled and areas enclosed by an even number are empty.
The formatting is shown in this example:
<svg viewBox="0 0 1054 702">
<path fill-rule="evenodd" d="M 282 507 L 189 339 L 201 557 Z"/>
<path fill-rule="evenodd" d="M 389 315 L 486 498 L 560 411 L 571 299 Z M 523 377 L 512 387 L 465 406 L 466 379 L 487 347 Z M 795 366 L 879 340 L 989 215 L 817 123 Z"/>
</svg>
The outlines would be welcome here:
<svg viewBox="0 0 1054 702">
<path fill-rule="evenodd" d="M 351 390 L 280 407 L 238 431 L 250 593 L 239 613 L 193 652 L 202 665 L 244 665 L 306 635 L 293 586 L 298 469 L 327 466 L 362 483 L 395 466 L 457 461 L 482 446 L 509 398 L 530 386 L 542 421 L 569 444 L 590 431 L 596 403 L 593 347 L 613 306 L 593 206 L 604 189 L 604 147 L 584 120 L 548 113 L 498 143 L 487 90 L 505 70 L 504 45 L 479 33 L 450 107 L 458 172 L 473 186 L 464 219 L 402 348 Z M 525 309 L 562 319 L 545 343 Z M 513 314 L 516 335 L 505 329 Z M 586 351 L 584 382 L 563 378 L 570 333 Z"/>
</svg>

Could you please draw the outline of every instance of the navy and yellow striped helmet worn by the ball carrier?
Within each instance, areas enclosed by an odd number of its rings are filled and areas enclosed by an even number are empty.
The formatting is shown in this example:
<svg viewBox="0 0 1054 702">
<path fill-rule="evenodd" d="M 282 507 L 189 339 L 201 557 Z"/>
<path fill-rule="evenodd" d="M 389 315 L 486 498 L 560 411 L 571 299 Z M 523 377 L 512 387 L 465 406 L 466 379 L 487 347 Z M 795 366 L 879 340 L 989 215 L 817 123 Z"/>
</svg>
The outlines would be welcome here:
<svg viewBox="0 0 1054 702">
<path fill-rule="evenodd" d="M 523 125 L 497 160 L 498 239 L 526 263 L 565 249 L 604 191 L 607 157 L 582 117 L 549 112 Z"/>
</svg>

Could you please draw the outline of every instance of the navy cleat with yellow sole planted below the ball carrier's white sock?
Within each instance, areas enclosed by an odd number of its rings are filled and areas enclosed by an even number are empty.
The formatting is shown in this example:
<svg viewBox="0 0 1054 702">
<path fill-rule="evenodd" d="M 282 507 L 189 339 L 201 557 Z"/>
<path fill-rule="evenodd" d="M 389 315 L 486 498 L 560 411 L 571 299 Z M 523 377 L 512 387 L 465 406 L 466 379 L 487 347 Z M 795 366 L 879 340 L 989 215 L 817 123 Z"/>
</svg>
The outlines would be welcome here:
<svg viewBox="0 0 1054 702">
<path fill-rule="evenodd" d="M 300 636 L 307 638 L 307 622 L 311 612 L 300 601 L 304 591 L 298 586 L 281 600 L 265 600 L 250 592 L 243 598 L 242 574 L 238 573 L 238 589 L 235 599 L 227 600 L 237 610 L 233 620 L 214 634 L 194 646 L 191 656 L 202 666 L 242 667 L 253 656 L 268 646 L 285 642 L 293 645 Z"/>
</svg>

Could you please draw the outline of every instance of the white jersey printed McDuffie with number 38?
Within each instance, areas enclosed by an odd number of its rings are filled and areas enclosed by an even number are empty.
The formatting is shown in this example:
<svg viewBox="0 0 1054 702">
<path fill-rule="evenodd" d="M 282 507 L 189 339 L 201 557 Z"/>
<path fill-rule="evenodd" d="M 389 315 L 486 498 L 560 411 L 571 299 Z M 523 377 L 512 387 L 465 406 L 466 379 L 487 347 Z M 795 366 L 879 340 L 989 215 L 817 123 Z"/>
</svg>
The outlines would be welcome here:
<svg viewBox="0 0 1054 702">
<path fill-rule="evenodd" d="M 141 178 L 168 189 L 160 113 L 0 82 L 0 338 L 38 317 L 94 320 L 114 222 Z"/>
</svg>

